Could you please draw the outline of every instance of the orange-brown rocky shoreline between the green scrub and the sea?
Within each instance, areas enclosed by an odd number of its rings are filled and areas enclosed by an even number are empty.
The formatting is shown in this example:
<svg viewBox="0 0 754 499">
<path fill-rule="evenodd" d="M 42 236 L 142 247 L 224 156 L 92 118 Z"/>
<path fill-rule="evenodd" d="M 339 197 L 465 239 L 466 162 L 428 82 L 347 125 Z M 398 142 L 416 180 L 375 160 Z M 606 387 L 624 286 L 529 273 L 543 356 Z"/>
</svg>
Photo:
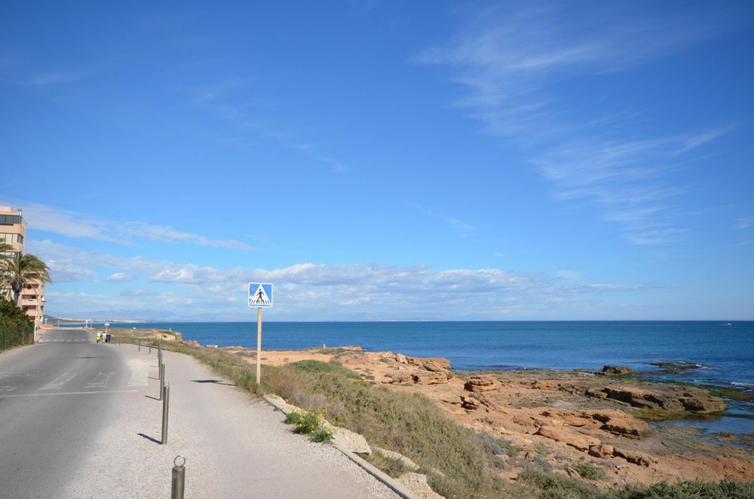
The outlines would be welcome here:
<svg viewBox="0 0 754 499">
<path fill-rule="evenodd" d="M 222 349 L 256 362 L 250 349 Z M 456 372 L 447 359 L 359 347 L 262 352 L 262 362 L 271 365 L 298 360 L 337 363 L 375 386 L 428 396 L 458 424 L 509 442 L 513 450 L 498 456 L 498 474 L 508 479 L 531 466 L 575 476 L 583 462 L 605 470 L 600 486 L 754 476 L 749 437 L 721 452 L 719 446 L 696 445 L 688 435 L 659 431 L 647 422 L 719 415 L 725 400 L 702 388 L 645 383 L 621 366 L 600 372 Z"/>
</svg>

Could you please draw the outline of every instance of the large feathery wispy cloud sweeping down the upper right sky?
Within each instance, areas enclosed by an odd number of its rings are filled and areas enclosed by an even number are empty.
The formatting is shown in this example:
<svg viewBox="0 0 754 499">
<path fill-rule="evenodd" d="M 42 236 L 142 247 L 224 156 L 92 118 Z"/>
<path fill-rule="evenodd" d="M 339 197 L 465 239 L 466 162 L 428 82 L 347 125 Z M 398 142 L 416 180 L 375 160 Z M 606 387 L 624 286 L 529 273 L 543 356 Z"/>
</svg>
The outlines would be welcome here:
<svg viewBox="0 0 754 499">
<path fill-rule="evenodd" d="M 487 133 L 522 148 L 557 199 L 604 204 L 610 213 L 603 219 L 624 224 L 633 243 L 667 243 L 683 229 L 658 203 L 688 188 L 673 185 L 668 174 L 682 155 L 734 125 L 636 136 L 631 125 L 645 120 L 641 112 L 608 104 L 585 118 L 558 84 L 622 71 L 736 29 L 743 21 L 735 11 L 710 5 L 679 12 L 629 2 L 497 5 L 467 13 L 449 44 L 415 62 L 448 66 L 452 81 L 466 90 L 453 104 L 482 121 Z M 632 219 L 625 223 L 628 212 Z M 636 232 L 651 225 L 666 226 L 666 236 Z"/>
</svg>

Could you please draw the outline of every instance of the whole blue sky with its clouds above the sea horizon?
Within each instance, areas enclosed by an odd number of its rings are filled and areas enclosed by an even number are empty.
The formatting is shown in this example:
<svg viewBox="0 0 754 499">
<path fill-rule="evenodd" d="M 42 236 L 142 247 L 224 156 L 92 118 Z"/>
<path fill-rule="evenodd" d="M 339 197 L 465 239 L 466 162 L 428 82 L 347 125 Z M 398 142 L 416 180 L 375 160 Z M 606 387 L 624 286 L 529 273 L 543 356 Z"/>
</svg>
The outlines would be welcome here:
<svg viewBox="0 0 754 499">
<path fill-rule="evenodd" d="M 754 319 L 750 2 L 2 10 L 50 314 Z"/>
</svg>

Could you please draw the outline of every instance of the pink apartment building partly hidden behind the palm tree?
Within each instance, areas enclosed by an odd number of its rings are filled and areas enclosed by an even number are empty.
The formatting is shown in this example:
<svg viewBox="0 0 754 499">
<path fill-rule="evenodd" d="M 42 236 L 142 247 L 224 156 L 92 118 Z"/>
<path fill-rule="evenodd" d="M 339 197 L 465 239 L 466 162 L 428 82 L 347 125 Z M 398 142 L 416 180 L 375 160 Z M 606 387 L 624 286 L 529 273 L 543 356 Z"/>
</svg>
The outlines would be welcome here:
<svg viewBox="0 0 754 499">
<path fill-rule="evenodd" d="M 26 253 L 26 220 L 23 210 L 12 207 L 0 207 L 0 243 L 13 246 L 13 250 L 5 252 L 8 256 Z M 9 289 L 2 290 L 10 294 Z M 43 324 L 44 317 L 44 283 L 28 283 L 21 292 L 21 308 L 26 311 L 26 317 L 37 321 L 37 326 Z"/>
</svg>

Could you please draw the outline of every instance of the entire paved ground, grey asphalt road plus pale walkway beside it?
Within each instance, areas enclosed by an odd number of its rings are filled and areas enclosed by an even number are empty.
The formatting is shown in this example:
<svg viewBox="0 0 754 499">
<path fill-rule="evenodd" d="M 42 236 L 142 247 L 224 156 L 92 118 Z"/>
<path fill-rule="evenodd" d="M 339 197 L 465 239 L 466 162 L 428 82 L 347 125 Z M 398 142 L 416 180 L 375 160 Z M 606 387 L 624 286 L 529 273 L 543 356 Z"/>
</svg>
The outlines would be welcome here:
<svg viewBox="0 0 754 499">
<path fill-rule="evenodd" d="M 397 497 L 329 445 L 195 359 L 164 352 L 170 425 L 161 445 L 157 351 L 48 331 L 0 354 L 0 498 L 170 497 L 186 462 L 186 497 Z"/>
</svg>

